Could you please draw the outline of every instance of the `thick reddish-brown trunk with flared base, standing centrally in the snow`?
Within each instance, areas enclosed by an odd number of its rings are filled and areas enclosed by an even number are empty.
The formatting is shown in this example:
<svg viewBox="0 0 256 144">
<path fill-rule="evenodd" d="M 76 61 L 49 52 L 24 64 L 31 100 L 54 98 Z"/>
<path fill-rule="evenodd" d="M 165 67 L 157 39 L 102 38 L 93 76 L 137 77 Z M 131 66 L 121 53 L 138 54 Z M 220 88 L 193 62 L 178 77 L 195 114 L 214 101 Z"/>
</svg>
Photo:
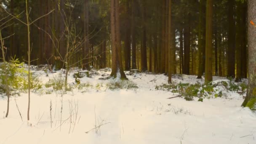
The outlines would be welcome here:
<svg viewBox="0 0 256 144">
<path fill-rule="evenodd" d="M 111 0 L 112 77 L 127 79 L 123 72 L 119 21 L 119 0 Z"/>
</svg>

